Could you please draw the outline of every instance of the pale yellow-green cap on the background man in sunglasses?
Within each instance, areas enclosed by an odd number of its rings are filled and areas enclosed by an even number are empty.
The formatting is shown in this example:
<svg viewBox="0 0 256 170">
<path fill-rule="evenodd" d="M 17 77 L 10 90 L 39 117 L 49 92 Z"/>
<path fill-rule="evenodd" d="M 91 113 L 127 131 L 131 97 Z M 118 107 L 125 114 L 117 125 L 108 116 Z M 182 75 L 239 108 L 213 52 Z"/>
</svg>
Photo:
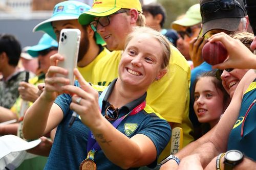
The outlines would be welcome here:
<svg viewBox="0 0 256 170">
<path fill-rule="evenodd" d="M 183 18 L 173 21 L 172 28 L 178 31 L 180 26 L 190 27 L 190 26 L 197 25 L 198 23 L 201 23 L 201 22 L 202 22 L 202 17 L 200 14 L 200 5 L 195 4 L 187 10 Z"/>
</svg>

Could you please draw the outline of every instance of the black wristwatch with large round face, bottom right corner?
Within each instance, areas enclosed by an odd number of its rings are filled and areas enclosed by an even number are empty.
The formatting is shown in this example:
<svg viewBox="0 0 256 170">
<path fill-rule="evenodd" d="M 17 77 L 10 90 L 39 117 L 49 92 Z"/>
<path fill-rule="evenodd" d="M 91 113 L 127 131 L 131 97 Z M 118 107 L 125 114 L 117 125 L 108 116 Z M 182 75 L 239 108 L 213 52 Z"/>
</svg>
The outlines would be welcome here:
<svg viewBox="0 0 256 170">
<path fill-rule="evenodd" d="M 224 157 L 224 169 L 231 170 L 233 167 L 242 162 L 244 154 L 238 150 L 227 151 Z"/>
</svg>

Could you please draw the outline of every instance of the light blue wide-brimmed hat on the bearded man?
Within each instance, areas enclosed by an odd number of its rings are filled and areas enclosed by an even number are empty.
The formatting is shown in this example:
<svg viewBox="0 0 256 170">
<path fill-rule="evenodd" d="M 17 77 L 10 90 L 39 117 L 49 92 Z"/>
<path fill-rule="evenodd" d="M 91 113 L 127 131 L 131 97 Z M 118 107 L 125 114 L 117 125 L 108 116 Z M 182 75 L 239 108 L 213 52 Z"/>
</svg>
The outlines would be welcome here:
<svg viewBox="0 0 256 170">
<path fill-rule="evenodd" d="M 33 32 L 43 31 L 57 40 L 52 27 L 52 21 L 78 19 L 80 14 L 84 11 L 88 11 L 89 9 L 91 9 L 89 5 L 78 1 L 65 1 L 58 3 L 53 8 L 52 17 L 38 23 L 38 25 L 34 27 Z M 95 37 L 97 44 L 105 44 L 104 40 L 97 32 L 95 32 Z"/>
</svg>

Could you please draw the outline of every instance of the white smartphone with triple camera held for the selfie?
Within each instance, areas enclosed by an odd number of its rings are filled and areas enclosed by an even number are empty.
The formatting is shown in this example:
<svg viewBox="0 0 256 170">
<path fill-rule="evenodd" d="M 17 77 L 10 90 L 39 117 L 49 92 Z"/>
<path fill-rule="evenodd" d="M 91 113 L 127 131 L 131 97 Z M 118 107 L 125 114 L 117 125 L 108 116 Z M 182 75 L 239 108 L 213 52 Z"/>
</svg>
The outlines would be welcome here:
<svg viewBox="0 0 256 170">
<path fill-rule="evenodd" d="M 64 61 L 58 61 L 58 66 L 69 71 L 68 78 L 70 84 L 74 84 L 74 68 L 77 64 L 79 53 L 81 32 L 78 29 L 62 29 L 59 36 L 58 53 L 65 58 Z M 62 76 L 63 75 L 58 75 Z"/>
</svg>

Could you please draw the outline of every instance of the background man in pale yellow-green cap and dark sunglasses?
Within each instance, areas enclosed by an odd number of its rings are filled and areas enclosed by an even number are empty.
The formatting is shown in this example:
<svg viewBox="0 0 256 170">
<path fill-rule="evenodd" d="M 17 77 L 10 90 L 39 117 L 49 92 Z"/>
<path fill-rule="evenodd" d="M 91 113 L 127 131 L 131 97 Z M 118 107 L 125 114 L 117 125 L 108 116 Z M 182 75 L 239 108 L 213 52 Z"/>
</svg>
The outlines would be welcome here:
<svg viewBox="0 0 256 170">
<path fill-rule="evenodd" d="M 189 56 L 189 42 L 191 39 L 198 36 L 201 29 L 202 17 L 200 14 L 200 5 L 195 4 L 191 6 L 184 17 L 173 21 L 172 28 L 178 32 L 179 38 L 177 40 L 177 48 L 181 54 L 190 61 Z M 193 63 L 191 63 L 193 68 Z"/>
</svg>

